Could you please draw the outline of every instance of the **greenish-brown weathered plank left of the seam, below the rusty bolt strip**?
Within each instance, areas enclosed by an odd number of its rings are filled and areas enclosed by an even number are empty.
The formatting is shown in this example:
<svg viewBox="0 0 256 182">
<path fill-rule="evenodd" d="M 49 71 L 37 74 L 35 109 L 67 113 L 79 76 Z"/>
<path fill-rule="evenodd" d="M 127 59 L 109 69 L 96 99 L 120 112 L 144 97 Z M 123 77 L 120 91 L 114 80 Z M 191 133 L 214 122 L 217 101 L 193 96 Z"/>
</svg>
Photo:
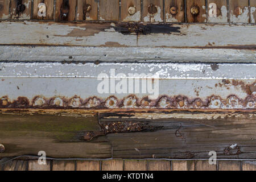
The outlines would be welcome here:
<svg viewBox="0 0 256 182">
<path fill-rule="evenodd" d="M 8 150 L 0 158 L 38 155 L 42 150 L 56 158 L 110 158 L 111 146 L 104 137 L 95 142 L 79 140 L 81 131 L 98 130 L 97 122 L 97 117 L 1 115 L 0 140 Z"/>
</svg>

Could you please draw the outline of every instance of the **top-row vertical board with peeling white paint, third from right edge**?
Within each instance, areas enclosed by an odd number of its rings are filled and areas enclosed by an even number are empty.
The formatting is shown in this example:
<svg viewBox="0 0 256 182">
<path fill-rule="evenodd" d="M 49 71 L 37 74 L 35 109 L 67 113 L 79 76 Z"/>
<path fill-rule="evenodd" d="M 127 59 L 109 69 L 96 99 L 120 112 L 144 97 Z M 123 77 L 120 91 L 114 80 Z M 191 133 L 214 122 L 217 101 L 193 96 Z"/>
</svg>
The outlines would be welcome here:
<svg viewBox="0 0 256 182">
<path fill-rule="evenodd" d="M 208 0 L 208 6 L 211 3 L 215 3 L 217 8 L 217 15 L 216 16 L 210 16 L 209 11 L 210 8 L 214 7 L 208 7 L 208 22 L 209 23 L 228 23 L 228 5 L 226 1 L 223 0 Z"/>
</svg>

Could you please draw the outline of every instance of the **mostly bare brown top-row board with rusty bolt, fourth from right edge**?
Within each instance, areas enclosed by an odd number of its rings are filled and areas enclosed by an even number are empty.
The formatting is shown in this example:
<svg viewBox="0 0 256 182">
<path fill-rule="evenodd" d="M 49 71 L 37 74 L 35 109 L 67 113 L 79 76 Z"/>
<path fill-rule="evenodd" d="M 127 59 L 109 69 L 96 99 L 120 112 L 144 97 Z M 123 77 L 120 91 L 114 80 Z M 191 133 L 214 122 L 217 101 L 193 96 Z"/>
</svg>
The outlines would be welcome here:
<svg viewBox="0 0 256 182">
<path fill-rule="evenodd" d="M 199 13 L 193 15 L 191 8 L 199 8 Z M 207 20 L 206 17 L 205 0 L 187 0 L 187 21 L 188 23 L 204 23 Z"/>
</svg>

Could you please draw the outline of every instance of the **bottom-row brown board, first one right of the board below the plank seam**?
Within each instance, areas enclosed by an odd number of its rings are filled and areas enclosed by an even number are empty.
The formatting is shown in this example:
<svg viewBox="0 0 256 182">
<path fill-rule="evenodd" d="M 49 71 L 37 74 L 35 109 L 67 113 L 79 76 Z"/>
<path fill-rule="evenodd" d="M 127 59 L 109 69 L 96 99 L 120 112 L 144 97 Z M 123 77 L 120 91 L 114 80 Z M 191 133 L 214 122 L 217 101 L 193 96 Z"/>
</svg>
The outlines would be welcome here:
<svg viewBox="0 0 256 182">
<path fill-rule="evenodd" d="M 125 160 L 124 171 L 147 171 L 147 160 Z"/>
</svg>

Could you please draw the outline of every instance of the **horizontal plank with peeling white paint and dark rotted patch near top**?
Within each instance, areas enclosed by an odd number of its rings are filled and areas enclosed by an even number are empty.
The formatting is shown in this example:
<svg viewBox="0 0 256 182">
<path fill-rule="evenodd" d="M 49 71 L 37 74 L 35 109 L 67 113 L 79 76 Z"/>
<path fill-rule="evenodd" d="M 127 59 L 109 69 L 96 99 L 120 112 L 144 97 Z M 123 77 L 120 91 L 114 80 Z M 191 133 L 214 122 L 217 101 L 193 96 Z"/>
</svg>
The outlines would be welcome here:
<svg viewBox="0 0 256 182">
<path fill-rule="evenodd" d="M 132 32 L 131 34 L 122 33 L 122 25 L 113 25 L 113 23 L 110 25 L 110 23 L 2 22 L 0 23 L 0 44 L 185 48 L 231 47 L 237 49 L 246 46 L 247 49 L 255 49 L 256 36 L 250 36 L 255 34 L 255 27 L 250 25 L 229 26 L 228 24 L 218 24 L 212 26 L 209 24 L 175 24 L 166 27 L 151 26 L 151 33 L 136 35 Z M 147 28 L 147 26 L 144 28 Z M 30 32 L 30 34 L 27 34 L 27 32 Z M 12 35 L 11 38 L 9 35 Z"/>
</svg>

